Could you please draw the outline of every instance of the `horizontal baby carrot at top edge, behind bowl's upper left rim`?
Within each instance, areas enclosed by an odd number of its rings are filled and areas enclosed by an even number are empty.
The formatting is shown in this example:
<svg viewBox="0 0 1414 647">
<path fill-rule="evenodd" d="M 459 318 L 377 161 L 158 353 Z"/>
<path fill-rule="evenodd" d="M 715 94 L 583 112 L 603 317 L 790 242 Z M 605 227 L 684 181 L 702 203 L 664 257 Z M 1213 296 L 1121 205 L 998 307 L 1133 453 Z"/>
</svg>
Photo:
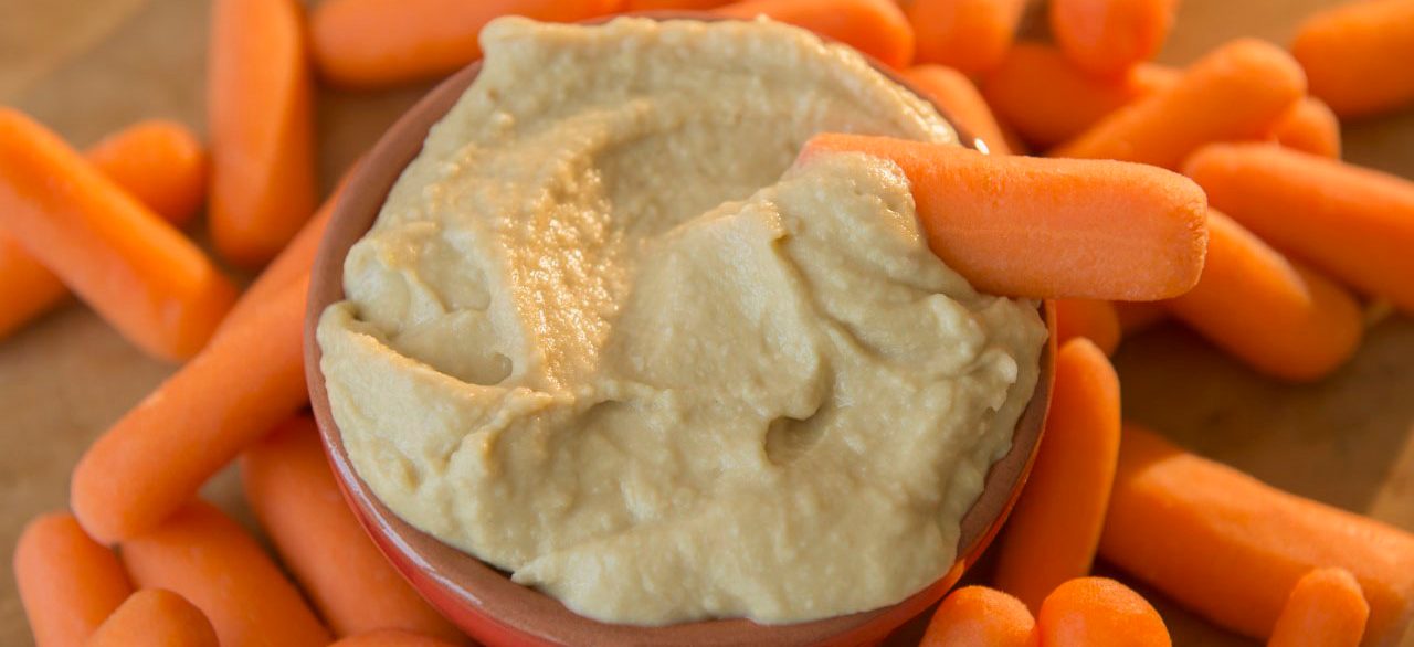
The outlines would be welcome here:
<svg viewBox="0 0 1414 647">
<path fill-rule="evenodd" d="M 621 0 L 328 0 L 310 18 L 320 73 L 345 88 L 386 88 L 452 73 L 481 58 L 481 28 L 502 16 L 573 23 Z"/>
</svg>

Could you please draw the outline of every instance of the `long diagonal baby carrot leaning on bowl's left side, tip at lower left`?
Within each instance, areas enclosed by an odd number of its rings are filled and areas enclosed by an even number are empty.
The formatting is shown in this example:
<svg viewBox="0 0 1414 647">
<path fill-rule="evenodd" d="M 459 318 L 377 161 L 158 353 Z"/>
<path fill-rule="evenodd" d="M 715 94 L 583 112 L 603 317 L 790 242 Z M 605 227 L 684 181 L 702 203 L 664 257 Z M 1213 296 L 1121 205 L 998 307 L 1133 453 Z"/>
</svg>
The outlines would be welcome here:
<svg viewBox="0 0 1414 647">
<path fill-rule="evenodd" d="M 112 542 L 153 528 L 308 401 L 307 285 L 293 281 L 223 331 L 89 446 L 69 501 L 93 537 Z"/>
</svg>

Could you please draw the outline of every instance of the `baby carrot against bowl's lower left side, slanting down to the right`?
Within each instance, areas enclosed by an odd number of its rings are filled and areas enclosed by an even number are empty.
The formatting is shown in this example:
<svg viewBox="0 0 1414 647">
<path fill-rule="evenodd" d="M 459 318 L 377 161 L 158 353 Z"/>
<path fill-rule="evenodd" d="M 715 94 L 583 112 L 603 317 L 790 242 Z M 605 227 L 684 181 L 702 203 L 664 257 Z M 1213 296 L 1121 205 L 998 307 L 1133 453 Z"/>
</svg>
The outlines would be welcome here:
<svg viewBox="0 0 1414 647">
<path fill-rule="evenodd" d="M 290 418 L 246 449 L 240 476 L 260 526 L 337 636 L 406 629 L 460 639 L 354 518 L 312 418 Z"/>
</svg>

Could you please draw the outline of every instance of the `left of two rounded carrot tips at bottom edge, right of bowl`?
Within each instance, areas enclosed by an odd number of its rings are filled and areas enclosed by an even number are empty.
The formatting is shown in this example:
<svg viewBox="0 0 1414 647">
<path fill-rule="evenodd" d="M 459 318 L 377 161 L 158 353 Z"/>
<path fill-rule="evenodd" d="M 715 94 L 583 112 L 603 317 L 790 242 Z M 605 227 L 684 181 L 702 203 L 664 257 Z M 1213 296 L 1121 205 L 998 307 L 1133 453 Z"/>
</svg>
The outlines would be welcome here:
<svg viewBox="0 0 1414 647">
<path fill-rule="evenodd" d="M 986 586 L 943 599 L 919 647 L 1029 647 L 1036 622 L 1021 600 Z"/>
</svg>

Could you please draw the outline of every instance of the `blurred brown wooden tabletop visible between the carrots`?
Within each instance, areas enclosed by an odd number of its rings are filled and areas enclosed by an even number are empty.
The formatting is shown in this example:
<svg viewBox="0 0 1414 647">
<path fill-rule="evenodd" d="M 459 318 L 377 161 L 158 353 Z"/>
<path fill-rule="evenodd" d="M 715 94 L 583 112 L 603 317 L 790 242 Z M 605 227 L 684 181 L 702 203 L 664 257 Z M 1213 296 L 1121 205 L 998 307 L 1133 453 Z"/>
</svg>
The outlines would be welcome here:
<svg viewBox="0 0 1414 647">
<path fill-rule="evenodd" d="M 1161 59 L 1182 64 L 1239 35 L 1285 42 L 1302 16 L 1326 4 L 1184 0 Z M 146 117 L 204 130 L 205 38 L 201 0 L 0 0 L 0 103 L 30 112 L 76 146 Z M 324 185 L 424 90 L 321 90 Z M 1414 112 L 1350 124 L 1346 151 L 1352 161 L 1414 177 Z M 1314 386 L 1257 377 L 1176 326 L 1127 342 L 1117 363 L 1128 417 L 1287 490 L 1414 530 L 1414 321 L 1374 325 L 1355 362 Z M 168 372 L 82 305 L 0 342 L 7 554 L 27 518 L 65 506 L 68 473 L 83 448 Z M 232 475 L 206 496 L 249 521 Z M 1155 600 L 1175 644 L 1250 644 Z M 8 559 L 0 566 L 0 644 L 31 644 Z"/>
</svg>

